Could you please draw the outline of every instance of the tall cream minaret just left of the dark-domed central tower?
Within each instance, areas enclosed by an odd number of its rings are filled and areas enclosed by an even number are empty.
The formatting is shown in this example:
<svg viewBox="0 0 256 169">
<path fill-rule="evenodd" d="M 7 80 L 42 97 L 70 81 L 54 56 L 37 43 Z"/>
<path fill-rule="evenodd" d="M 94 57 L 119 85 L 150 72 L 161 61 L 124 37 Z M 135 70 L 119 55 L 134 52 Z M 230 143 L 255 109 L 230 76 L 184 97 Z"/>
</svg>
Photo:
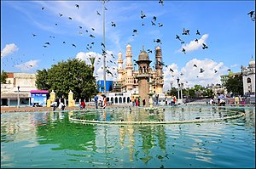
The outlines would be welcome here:
<svg viewBox="0 0 256 169">
<path fill-rule="evenodd" d="M 126 46 L 126 66 L 125 66 L 125 70 L 126 70 L 125 87 L 126 87 L 126 92 L 128 93 L 131 92 L 131 90 L 133 89 L 133 83 L 134 83 L 134 79 L 132 76 L 133 64 L 132 64 L 131 58 L 132 58 L 131 45 L 128 44 Z"/>
</svg>

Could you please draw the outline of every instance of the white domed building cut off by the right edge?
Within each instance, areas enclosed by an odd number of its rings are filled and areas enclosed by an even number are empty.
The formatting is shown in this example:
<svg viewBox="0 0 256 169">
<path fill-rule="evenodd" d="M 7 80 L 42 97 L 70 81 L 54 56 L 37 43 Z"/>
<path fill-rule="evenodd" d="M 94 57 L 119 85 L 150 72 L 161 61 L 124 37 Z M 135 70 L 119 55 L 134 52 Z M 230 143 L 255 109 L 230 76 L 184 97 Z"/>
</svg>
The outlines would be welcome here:
<svg viewBox="0 0 256 169">
<path fill-rule="evenodd" d="M 255 60 L 249 62 L 248 67 L 241 66 L 243 94 L 255 95 Z"/>
</svg>

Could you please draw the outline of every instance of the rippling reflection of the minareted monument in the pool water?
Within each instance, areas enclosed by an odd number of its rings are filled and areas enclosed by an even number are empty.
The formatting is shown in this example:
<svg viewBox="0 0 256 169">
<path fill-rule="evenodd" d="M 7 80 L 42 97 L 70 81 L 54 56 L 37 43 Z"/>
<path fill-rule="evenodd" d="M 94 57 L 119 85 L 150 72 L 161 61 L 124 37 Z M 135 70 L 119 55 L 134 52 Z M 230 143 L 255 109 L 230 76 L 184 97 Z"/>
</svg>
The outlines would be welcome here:
<svg viewBox="0 0 256 169">
<path fill-rule="evenodd" d="M 140 115 L 138 113 L 137 115 Z M 124 116 L 126 121 L 135 121 L 137 115 L 133 113 L 127 113 Z M 149 114 L 146 114 L 149 116 Z M 162 115 L 160 115 L 162 118 Z M 139 133 L 139 135 L 136 135 Z M 152 156 L 150 151 L 155 147 L 160 147 L 163 153 L 166 153 L 166 131 L 163 125 L 157 126 L 120 126 L 119 127 L 119 143 L 121 149 L 127 147 L 129 149 L 129 158 L 130 161 L 138 161 L 138 157 L 144 163 L 148 163 L 151 159 L 154 159 L 155 156 Z M 143 157 L 140 155 L 136 144 L 139 143 L 139 146 L 143 149 Z"/>
</svg>

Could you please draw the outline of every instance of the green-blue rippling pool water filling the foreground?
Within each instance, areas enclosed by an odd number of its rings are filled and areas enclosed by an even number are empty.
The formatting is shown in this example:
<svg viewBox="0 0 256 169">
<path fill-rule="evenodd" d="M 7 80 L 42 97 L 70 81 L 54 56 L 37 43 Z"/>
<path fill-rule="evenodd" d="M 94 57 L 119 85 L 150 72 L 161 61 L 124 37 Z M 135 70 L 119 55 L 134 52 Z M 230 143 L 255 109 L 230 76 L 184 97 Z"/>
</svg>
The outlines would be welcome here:
<svg viewBox="0 0 256 169">
<path fill-rule="evenodd" d="M 193 109 L 192 109 L 193 108 Z M 238 168 L 255 167 L 255 109 L 183 107 L 145 110 L 1 114 L 3 168 Z M 183 121 L 242 112 L 225 121 L 101 125 L 70 121 Z"/>
</svg>

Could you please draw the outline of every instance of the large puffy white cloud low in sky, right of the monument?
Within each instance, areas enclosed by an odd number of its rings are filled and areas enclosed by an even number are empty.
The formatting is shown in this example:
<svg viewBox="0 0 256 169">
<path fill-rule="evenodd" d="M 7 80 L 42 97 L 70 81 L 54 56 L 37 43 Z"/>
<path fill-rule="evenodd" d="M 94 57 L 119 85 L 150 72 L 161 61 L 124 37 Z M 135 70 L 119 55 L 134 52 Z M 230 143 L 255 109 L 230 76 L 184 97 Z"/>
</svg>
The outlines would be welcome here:
<svg viewBox="0 0 256 169">
<path fill-rule="evenodd" d="M 195 67 L 194 65 L 197 65 Z M 174 71 L 171 73 L 170 68 Z M 200 73 L 200 70 L 204 71 Z M 215 70 L 217 72 L 215 73 Z M 164 69 L 164 88 L 167 90 L 171 87 L 171 82 L 173 87 L 177 87 L 177 77 L 179 77 L 180 82 L 183 82 L 184 87 L 194 87 L 195 84 L 199 84 L 203 87 L 207 85 L 221 83 L 220 76 L 223 75 L 227 70 L 227 67 L 223 62 L 216 63 L 212 59 L 191 59 L 189 62 L 180 70 L 178 70 L 177 65 L 168 65 Z M 183 73 L 183 76 L 181 76 Z"/>
</svg>

